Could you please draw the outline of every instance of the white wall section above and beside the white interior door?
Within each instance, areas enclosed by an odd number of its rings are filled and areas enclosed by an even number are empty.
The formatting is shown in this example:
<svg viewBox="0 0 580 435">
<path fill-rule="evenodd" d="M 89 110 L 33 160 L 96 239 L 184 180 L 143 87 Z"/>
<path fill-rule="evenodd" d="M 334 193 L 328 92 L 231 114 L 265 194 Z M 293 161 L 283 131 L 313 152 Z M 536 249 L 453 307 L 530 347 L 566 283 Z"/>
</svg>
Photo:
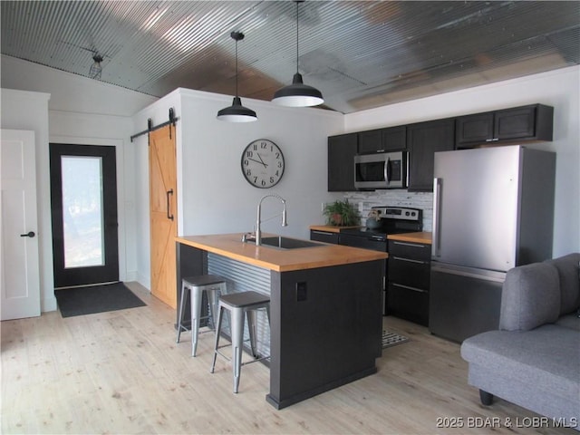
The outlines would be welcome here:
<svg viewBox="0 0 580 435">
<path fill-rule="evenodd" d="M 48 179 L 48 102 L 49 93 L 1 91 L 3 129 L 34 131 L 36 149 L 36 208 L 40 267 L 41 311 L 56 309 L 53 291 L 53 238 L 51 237 L 50 186 Z M 48 212 L 46 211 L 48 210 Z"/>
</svg>

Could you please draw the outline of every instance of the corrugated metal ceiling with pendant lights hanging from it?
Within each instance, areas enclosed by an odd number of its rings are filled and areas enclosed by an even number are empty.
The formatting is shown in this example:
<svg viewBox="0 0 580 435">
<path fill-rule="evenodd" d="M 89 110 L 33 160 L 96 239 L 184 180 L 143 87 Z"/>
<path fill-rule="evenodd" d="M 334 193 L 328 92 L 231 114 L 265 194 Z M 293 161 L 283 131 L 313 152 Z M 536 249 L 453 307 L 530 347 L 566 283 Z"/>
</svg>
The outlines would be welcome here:
<svg viewBox="0 0 580 435">
<path fill-rule="evenodd" d="M 296 70 L 293 1 L 2 1 L 2 53 L 161 97 L 269 101 Z M 306 1 L 299 70 L 350 113 L 580 63 L 578 1 Z"/>
</svg>

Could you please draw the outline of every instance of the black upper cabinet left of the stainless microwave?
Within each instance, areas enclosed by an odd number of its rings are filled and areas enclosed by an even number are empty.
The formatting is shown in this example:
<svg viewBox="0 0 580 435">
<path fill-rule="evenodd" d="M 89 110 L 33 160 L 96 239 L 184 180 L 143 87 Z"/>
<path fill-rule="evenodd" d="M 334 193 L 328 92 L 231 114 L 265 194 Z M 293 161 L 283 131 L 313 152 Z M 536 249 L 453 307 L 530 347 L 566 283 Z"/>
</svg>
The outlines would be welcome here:
<svg viewBox="0 0 580 435">
<path fill-rule="evenodd" d="M 328 138 L 328 191 L 354 191 L 354 156 L 358 149 L 358 133 Z"/>
</svg>

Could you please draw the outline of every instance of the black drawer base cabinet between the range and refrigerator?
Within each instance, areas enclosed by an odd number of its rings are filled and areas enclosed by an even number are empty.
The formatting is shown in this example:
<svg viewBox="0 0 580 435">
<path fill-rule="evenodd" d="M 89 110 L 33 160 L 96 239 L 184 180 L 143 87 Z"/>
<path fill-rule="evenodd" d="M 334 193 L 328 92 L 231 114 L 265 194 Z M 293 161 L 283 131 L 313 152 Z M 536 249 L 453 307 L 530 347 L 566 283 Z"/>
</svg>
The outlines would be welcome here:
<svg viewBox="0 0 580 435">
<path fill-rule="evenodd" d="M 430 245 L 389 240 L 387 314 L 429 324 Z"/>
</svg>

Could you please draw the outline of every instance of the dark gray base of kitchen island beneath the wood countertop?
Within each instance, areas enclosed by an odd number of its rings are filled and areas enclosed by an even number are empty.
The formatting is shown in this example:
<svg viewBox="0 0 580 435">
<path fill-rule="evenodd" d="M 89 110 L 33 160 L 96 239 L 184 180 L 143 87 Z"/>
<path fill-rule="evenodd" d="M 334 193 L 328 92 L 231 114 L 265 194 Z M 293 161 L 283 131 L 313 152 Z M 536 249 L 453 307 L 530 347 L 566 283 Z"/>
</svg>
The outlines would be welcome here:
<svg viewBox="0 0 580 435">
<path fill-rule="evenodd" d="M 189 242 L 197 237 L 186 238 L 186 243 L 178 238 L 178 282 L 185 275 L 207 273 L 208 251 L 211 256 L 219 251 L 194 247 Z M 293 252 L 315 249 L 326 247 Z M 281 254 L 284 251 L 275 251 L 275 256 Z M 246 263 L 239 253 L 226 257 L 238 265 Z M 249 253 L 248 265 L 256 266 L 255 260 L 256 252 Z M 382 354 L 385 260 L 354 262 L 351 256 L 347 261 L 310 267 L 315 266 L 313 262 L 298 270 L 284 270 L 292 266 L 262 270 L 270 280 L 270 391 L 266 401 L 278 410 L 377 372 L 375 359 Z"/>
</svg>

